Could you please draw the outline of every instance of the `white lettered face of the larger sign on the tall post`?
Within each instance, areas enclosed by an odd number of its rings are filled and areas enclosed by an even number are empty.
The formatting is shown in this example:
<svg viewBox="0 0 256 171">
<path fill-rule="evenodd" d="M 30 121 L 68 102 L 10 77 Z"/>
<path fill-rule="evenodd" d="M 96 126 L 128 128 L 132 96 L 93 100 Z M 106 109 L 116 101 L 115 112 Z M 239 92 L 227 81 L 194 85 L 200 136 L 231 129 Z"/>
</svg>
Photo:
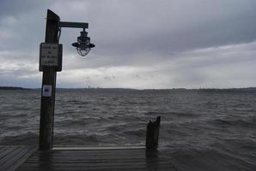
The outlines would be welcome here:
<svg viewBox="0 0 256 171">
<path fill-rule="evenodd" d="M 41 44 L 40 63 L 42 66 L 58 66 L 58 44 Z"/>
</svg>

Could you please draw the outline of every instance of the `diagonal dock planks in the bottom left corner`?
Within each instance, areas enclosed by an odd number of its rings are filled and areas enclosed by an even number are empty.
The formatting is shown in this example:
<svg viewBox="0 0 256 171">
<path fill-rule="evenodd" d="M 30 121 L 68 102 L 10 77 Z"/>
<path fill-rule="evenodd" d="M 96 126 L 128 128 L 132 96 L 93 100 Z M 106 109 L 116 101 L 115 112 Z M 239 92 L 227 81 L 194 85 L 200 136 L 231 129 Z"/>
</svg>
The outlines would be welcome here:
<svg viewBox="0 0 256 171">
<path fill-rule="evenodd" d="M 0 170 L 12 171 L 18 168 L 36 148 L 23 145 L 0 145 Z"/>
</svg>

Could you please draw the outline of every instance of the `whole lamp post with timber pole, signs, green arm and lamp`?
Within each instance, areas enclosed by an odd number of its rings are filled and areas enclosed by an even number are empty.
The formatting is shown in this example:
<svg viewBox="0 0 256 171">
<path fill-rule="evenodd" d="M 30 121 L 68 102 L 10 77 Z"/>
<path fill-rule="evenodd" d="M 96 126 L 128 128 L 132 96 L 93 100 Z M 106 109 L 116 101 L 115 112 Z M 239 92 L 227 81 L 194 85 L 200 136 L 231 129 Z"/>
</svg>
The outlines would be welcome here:
<svg viewBox="0 0 256 171">
<path fill-rule="evenodd" d="M 60 21 L 58 15 L 47 10 L 46 39 L 40 44 L 40 71 L 43 72 L 40 106 L 40 150 L 51 150 L 57 72 L 62 70 L 62 44 L 58 44 L 62 27 L 82 28 L 77 42 L 72 44 L 81 56 L 88 55 L 94 44 L 90 43 L 85 29 L 88 23 Z"/>
</svg>

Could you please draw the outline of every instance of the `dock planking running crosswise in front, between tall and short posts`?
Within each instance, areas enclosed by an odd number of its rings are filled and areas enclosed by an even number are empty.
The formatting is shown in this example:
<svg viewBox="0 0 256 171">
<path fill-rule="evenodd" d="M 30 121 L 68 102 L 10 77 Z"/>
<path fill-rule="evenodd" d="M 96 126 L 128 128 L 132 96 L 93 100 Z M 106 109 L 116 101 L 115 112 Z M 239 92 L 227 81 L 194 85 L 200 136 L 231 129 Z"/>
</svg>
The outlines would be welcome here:
<svg viewBox="0 0 256 171">
<path fill-rule="evenodd" d="M 176 170 L 157 152 L 144 149 L 48 150 L 27 158 L 19 171 L 29 170 Z"/>
</svg>

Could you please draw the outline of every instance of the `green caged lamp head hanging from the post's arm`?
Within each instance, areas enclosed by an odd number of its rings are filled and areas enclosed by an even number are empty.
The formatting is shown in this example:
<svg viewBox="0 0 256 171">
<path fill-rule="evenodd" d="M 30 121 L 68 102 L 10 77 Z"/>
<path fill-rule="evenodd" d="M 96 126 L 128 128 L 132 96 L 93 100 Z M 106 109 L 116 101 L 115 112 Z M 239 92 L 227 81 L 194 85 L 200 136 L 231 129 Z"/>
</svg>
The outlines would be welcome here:
<svg viewBox="0 0 256 171">
<path fill-rule="evenodd" d="M 88 32 L 85 32 L 83 28 L 82 32 L 80 32 L 80 36 L 77 37 L 77 42 L 72 44 L 76 47 L 77 53 L 80 56 L 86 56 L 95 45 L 90 43 L 90 38 L 88 37 Z"/>
</svg>

